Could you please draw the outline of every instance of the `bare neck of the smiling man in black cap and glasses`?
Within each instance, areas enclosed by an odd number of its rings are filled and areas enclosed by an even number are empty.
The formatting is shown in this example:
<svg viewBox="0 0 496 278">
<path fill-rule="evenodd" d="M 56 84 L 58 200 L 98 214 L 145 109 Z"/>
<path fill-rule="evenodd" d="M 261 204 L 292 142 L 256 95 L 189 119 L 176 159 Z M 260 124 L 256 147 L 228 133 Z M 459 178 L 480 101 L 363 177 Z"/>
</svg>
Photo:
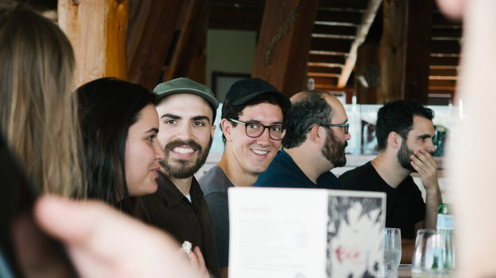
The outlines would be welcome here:
<svg viewBox="0 0 496 278">
<path fill-rule="evenodd" d="M 249 173 L 244 170 L 236 158 L 233 158 L 225 151 L 224 154 L 222 154 L 222 158 L 217 166 L 224 171 L 227 178 L 229 178 L 234 186 L 250 187 L 253 186 L 258 179 L 257 173 Z"/>
</svg>

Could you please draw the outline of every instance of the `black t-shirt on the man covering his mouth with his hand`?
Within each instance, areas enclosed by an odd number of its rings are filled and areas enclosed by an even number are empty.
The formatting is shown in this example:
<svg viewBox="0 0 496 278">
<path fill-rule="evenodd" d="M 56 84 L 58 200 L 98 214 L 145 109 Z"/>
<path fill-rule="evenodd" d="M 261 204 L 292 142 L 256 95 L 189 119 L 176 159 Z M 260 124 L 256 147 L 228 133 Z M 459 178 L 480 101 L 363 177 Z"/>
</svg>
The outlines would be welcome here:
<svg viewBox="0 0 496 278">
<path fill-rule="evenodd" d="M 370 162 L 339 176 L 343 189 L 386 193 L 386 227 L 400 228 L 401 237 L 415 238 L 415 223 L 424 220 L 426 205 L 411 176 L 397 188 L 389 186 Z"/>
</svg>

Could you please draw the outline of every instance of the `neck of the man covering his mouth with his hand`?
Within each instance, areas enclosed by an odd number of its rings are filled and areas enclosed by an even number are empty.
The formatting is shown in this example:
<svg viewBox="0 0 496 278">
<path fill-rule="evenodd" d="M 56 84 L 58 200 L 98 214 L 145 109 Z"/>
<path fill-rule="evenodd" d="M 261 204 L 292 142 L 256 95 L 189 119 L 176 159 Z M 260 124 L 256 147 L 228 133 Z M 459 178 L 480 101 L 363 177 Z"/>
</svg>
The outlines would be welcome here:
<svg viewBox="0 0 496 278">
<path fill-rule="evenodd" d="M 392 188 L 398 187 L 412 172 L 400 165 L 395 154 L 387 153 L 387 151 L 379 152 L 371 164 L 379 176 Z"/>
</svg>

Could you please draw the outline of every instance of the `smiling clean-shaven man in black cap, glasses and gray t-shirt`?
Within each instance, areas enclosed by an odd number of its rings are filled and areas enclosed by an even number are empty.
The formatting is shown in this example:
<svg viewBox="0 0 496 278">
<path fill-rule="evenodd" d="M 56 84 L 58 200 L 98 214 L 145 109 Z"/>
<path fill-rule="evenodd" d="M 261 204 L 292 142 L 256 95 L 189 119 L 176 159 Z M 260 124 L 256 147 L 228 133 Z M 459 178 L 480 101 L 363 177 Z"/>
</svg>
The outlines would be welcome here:
<svg viewBox="0 0 496 278">
<path fill-rule="evenodd" d="M 223 277 L 227 277 L 229 251 L 227 188 L 253 186 L 267 169 L 286 135 L 283 120 L 290 108 L 288 97 L 260 78 L 240 80 L 227 92 L 221 121 L 226 148 L 219 164 L 199 179 Z"/>
</svg>

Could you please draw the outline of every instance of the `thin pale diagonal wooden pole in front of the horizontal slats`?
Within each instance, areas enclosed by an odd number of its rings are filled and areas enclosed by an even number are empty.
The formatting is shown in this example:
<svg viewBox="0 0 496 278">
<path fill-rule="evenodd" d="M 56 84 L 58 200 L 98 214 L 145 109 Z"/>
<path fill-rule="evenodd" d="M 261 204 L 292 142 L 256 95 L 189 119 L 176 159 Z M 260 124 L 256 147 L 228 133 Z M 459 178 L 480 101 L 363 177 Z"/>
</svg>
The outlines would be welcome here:
<svg viewBox="0 0 496 278">
<path fill-rule="evenodd" d="M 348 78 L 350 78 L 350 74 L 355 67 L 355 62 L 357 61 L 358 47 L 365 42 L 367 34 L 369 34 L 369 29 L 372 26 L 373 20 L 375 19 L 375 15 L 377 14 L 377 10 L 379 9 L 381 3 L 382 0 L 369 0 L 367 11 L 362 16 L 362 23 L 357 29 L 356 38 L 351 44 L 350 54 L 346 59 L 343 70 L 341 71 L 341 76 L 339 76 L 338 88 L 344 88 L 348 83 Z"/>
</svg>

